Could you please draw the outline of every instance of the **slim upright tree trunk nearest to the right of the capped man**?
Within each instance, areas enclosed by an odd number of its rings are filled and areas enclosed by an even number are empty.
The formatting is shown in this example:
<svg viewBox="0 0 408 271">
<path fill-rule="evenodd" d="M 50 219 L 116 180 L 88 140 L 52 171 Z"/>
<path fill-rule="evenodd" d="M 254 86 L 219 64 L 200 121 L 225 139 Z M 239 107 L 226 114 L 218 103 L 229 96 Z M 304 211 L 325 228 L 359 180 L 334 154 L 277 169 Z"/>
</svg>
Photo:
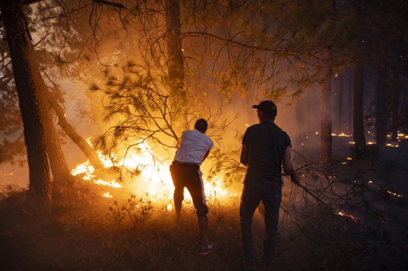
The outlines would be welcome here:
<svg viewBox="0 0 408 271">
<path fill-rule="evenodd" d="M 320 95 L 320 161 L 328 164 L 331 160 L 331 67 L 325 68 L 325 83 Z"/>
</svg>

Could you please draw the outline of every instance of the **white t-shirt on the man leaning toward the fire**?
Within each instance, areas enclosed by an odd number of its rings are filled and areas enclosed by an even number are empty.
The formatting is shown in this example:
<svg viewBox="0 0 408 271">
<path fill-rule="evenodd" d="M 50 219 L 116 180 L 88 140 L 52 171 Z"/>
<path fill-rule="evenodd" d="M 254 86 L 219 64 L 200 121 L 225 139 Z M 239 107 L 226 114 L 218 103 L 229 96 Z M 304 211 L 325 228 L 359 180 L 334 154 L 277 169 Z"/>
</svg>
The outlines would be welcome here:
<svg viewBox="0 0 408 271">
<path fill-rule="evenodd" d="M 200 165 L 208 150 L 214 147 L 210 137 L 200 131 L 186 130 L 182 134 L 181 144 L 175 153 L 174 161 Z"/>
</svg>

